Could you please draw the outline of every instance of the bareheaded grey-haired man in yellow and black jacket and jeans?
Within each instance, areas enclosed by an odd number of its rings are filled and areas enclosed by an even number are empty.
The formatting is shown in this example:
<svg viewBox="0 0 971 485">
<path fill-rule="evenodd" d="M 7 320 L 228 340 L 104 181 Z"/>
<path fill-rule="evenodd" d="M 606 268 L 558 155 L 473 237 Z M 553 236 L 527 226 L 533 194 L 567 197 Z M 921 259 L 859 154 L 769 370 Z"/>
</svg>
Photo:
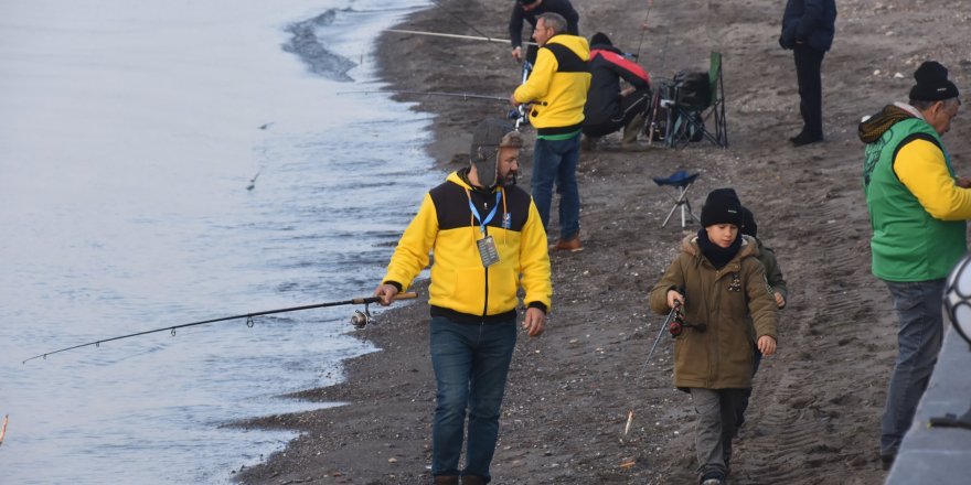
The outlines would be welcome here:
<svg viewBox="0 0 971 485">
<path fill-rule="evenodd" d="M 533 39 L 540 45 L 533 74 L 510 97 L 514 107 L 532 105 L 530 123 L 536 128 L 533 148 L 533 201 L 549 224 L 553 184 L 559 197 L 559 240 L 554 250 L 578 251 L 580 195 L 576 168 L 580 153 L 584 105 L 590 88 L 590 46 L 566 32 L 566 19 L 547 12 L 536 20 Z"/>
</svg>

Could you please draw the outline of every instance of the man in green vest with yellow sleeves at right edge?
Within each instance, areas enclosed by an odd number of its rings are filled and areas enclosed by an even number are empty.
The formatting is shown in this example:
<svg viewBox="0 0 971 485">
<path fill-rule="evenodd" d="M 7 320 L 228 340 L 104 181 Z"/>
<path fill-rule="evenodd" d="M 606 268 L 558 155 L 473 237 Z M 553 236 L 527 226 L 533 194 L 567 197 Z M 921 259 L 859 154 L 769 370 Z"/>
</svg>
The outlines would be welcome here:
<svg viewBox="0 0 971 485">
<path fill-rule="evenodd" d="M 899 354 L 881 420 L 879 454 L 889 468 L 927 389 L 943 334 L 945 280 L 968 250 L 971 181 L 954 175 L 941 136 L 961 100 L 948 69 L 935 61 L 914 73 L 909 104 L 894 103 L 864 119 L 863 187 L 873 237 L 873 273 L 897 309 Z"/>
</svg>

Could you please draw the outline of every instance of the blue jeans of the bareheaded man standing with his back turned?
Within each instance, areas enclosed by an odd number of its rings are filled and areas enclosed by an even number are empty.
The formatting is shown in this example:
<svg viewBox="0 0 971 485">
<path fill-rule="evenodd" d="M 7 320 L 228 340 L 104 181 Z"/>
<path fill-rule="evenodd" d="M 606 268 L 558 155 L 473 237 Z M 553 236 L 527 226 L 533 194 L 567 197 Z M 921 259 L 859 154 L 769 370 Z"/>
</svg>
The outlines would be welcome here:
<svg viewBox="0 0 971 485">
<path fill-rule="evenodd" d="M 540 211 L 543 227 L 549 225 L 553 206 L 553 183 L 559 193 L 559 239 L 567 240 L 580 231 L 580 193 L 576 166 L 580 159 L 580 133 L 568 140 L 536 139 L 533 148 L 533 202 Z"/>
</svg>

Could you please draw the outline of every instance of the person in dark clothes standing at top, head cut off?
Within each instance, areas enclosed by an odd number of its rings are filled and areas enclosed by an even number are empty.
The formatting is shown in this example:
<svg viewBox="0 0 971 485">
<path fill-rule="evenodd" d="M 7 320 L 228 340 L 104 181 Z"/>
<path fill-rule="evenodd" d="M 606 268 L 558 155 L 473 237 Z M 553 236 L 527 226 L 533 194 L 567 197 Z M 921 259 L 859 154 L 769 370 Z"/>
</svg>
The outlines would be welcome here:
<svg viewBox="0 0 971 485">
<path fill-rule="evenodd" d="M 801 147 L 823 140 L 823 56 L 833 45 L 836 30 L 835 0 L 788 0 L 782 14 L 779 45 L 792 50 L 799 83 L 802 131 L 789 139 Z"/>
</svg>

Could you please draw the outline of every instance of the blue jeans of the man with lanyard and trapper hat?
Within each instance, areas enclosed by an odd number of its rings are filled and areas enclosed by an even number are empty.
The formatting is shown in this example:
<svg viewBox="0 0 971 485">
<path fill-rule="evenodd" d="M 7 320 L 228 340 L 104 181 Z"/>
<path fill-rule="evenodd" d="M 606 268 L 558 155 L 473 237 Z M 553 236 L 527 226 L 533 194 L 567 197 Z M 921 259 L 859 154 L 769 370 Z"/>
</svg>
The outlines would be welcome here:
<svg viewBox="0 0 971 485">
<path fill-rule="evenodd" d="M 469 440 L 462 475 L 487 477 L 495 441 L 505 376 L 516 341 L 515 319 L 473 325 L 431 317 L 431 366 L 438 386 L 431 430 L 431 474 L 459 475 L 466 412 Z"/>
</svg>

